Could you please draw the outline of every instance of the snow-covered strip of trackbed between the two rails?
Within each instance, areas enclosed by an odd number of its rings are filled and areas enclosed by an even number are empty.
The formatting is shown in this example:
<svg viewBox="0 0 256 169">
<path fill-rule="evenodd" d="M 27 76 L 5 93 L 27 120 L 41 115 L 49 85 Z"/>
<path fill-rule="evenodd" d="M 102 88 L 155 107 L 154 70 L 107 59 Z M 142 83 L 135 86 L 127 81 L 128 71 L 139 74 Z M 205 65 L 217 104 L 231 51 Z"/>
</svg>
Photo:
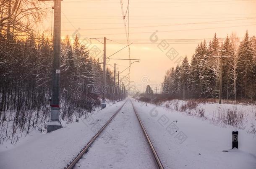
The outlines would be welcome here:
<svg viewBox="0 0 256 169">
<path fill-rule="evenodd" d="M 128 101 L 101 135 L 110 139 L 99 139 L 87 154 L 78 161 L 75 169 L 156 169 L 154 156 L 148 146 L 141 126 Z"/>
</svg>

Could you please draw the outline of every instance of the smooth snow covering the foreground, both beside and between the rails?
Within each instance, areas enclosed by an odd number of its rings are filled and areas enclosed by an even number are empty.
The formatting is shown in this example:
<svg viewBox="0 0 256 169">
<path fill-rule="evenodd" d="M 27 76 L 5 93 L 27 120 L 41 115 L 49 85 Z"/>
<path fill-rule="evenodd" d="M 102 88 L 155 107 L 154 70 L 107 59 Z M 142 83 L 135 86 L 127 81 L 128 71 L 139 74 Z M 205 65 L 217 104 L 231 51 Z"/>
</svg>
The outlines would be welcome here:
<svg viewBox="0 0 256 169">
<path fill-rule="evenodd" d="M 131 99 L 166 169 L 256 169 L 256 137 L 164 106 Z M 16 146 L 0 145 L 0 169 L 60 169 L 78 154 L 124 101 L 49 134 L 33 131 Z M 208 107 L 208 106 L 207 106 Z M 212 106 L 209 110 L 216 110 Z M 239 149 L 231 149 L 233 130 Z M 7 148 L 6 148 L 7 146 Z M 130 101 L 104 129 L 76 168 L 155 168 Z"/>
</svg>

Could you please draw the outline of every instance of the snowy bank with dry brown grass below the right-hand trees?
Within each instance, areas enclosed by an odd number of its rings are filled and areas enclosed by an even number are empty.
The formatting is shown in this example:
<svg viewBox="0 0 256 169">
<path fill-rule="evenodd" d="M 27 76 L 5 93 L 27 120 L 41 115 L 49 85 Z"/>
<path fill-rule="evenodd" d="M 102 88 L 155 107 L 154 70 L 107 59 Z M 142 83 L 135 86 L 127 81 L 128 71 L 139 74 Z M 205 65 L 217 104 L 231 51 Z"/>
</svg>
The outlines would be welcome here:
<svg viewBox="0 0 256 169">
<path fill-rule="evenodd" d="M 196 107 L 187 106 L 189 102 Z M 245 129 L 248 133 L 252 132 L 252 126 L 256 127 L 256 106 L 229 103 L 198 103 L 196 100 L 183 101 L 177 99 L 162 102 L 159 106 L 191 116 L 201 116 L 200 112 L 203 112 L 204 116 L 202 118 L 209 120 L 211 123 L 224 127 L 229 127 L 229 125 L 226 126 L 225 124 L 231 123 L 232 126 L 238 129 Z M 228 112 L 230 116 L 227 115 Z"/>
</svg>

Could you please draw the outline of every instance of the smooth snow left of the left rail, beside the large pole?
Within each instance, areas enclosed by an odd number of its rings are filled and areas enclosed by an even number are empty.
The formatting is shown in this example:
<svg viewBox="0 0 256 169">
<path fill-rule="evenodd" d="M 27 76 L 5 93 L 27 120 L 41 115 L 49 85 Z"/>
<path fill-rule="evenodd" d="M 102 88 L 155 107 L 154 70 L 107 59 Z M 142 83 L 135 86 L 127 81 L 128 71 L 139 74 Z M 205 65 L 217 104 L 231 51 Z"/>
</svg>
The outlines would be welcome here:
<svg viewBox="0 0 256 169">
<path fill-rule="evenodd" d="M 123 103 L 124 101 L 120 101 L 94 112 L 87 119 L 68 124 L 48 134 L 32 131 L 16 146 L 0 145 L 0 169 L 64 168 L 95 135 L 98 127 L 103 126 Z"/>
</svg>

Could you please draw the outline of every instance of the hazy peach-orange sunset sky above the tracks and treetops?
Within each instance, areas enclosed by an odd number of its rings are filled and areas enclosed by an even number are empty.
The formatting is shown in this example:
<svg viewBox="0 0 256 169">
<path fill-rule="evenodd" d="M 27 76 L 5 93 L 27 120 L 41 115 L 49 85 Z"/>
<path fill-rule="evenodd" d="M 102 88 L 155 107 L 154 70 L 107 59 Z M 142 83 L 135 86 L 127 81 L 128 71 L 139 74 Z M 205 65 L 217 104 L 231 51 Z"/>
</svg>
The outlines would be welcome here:
<svg viewBox="0 0 256 169">
<path fill-rule="evenodd" d="M 127 4 L 128 0 L 123 0 L 124 13 Z M 52 2 L 46 5 L 49 10 L 38 29 L 50 33 Z M 243 38 L 246 30 L 250 36 L 255 35 L 255 10 L 256 0 L 130 0 L 129 20 L 126 14 L 127 31 L 129 25 L 130 43 L 133 43 L 130 53 L 132 59 L 140 59 L 131 65 L 130 80 L 134 81 L 131 84 L 139 85 L 140 91 L 147 84 L 160 89 L 165 72 L 181 63 L 179 58 L 185 55 L 191 60 L 198 43 L 204 38 L 209 41 L 214 33 L 218 38 L 232 32 Z M 77 33 L 81 43 L 105 36 L 107 57 L 127 45 L 120 0 L 63 0 L 61 24 L 62 37 L 73 38 Z M 96 45 L 103 50 L 99 41 L 93 40 L 88 48 Z M 175 50 L 178 55 L 168 57 L 169 50 Z M 95 57 L 102 54 L 103 51 Z M 129 58 L 128 48 L 110 58 Z M 120 72 L 129 66 L 129 61 L 108 60 L 108 64 L 112 63 L 118 65 Z M 127 75 L 128 70 L 121 75 Z"/>
</svg>

